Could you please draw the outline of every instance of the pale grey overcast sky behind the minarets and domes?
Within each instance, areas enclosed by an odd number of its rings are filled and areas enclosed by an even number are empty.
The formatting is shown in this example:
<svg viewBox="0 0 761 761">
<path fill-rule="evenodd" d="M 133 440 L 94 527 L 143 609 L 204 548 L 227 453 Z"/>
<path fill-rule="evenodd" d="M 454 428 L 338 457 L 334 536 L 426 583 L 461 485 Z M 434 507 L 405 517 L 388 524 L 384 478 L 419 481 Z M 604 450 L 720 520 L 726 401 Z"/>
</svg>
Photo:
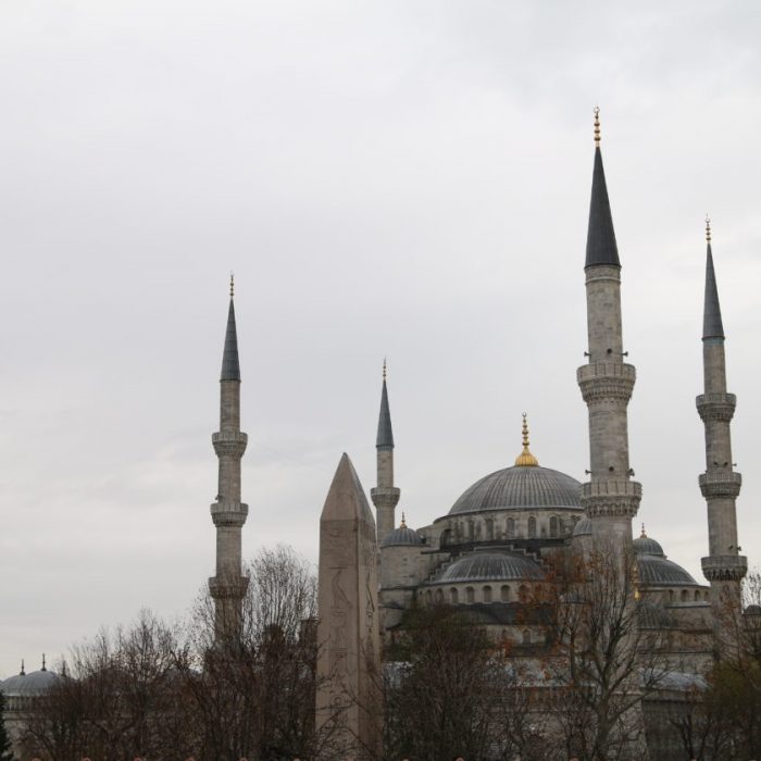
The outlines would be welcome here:
<svg viewBox="0 0 761 761">
<path fill-rule="evenodd" d="M 342 451 L 366 490 L 384 355 L 400 507 L 588 466 L 592 116 L 623 264 L 639 516 L 703 581 L 703 216 L 761 562 L 756 2 L 0 4 L 0 676 L 214 567 L 227 278 L 244 552 L 317 556 Z"/>
</svg>

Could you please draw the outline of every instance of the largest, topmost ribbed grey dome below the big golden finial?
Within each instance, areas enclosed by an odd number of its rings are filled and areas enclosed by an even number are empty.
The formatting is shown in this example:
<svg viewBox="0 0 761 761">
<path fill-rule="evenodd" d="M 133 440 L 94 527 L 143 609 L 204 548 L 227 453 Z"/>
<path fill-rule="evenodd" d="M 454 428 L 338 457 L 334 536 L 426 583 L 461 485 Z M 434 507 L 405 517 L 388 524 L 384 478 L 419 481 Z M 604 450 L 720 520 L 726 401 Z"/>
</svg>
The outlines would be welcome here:
<svg viewBox="0 0 761 761">
<path fill-rule="evenodd" d="M 560 471 L 514 465 L 477 481 L 454 502 L 449 514 L 525 508 L 581 510 L 581 483 Z"/>
</svg>

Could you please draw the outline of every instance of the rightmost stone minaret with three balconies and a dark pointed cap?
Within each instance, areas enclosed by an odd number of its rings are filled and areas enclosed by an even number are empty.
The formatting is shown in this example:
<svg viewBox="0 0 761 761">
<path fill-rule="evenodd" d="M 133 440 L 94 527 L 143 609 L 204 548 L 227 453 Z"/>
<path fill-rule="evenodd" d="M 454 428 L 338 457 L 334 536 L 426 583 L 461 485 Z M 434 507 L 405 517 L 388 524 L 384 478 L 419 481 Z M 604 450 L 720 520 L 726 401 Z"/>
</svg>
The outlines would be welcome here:
<svg viewBox="0 0 761 761">
<path fill-rule="evenodd" d="M 748 561 L 737 546 L 735 499 L 743 477 L 732 462 L 729 423 L 735 414 L 736 397 L 726 392 L 724 326 L 719 305 L 716 277 L 711 252 L 711 223 L 706 219 L 706 300 L 703 304 L 703 388 L 696 403 L 706 426 L 706 472 L 699 477 L 708 506 L 709 556 L 701 561 L 703 575 L 711 583 L 711 601 L 740 603 L 740 579 Z"/>
</svg>

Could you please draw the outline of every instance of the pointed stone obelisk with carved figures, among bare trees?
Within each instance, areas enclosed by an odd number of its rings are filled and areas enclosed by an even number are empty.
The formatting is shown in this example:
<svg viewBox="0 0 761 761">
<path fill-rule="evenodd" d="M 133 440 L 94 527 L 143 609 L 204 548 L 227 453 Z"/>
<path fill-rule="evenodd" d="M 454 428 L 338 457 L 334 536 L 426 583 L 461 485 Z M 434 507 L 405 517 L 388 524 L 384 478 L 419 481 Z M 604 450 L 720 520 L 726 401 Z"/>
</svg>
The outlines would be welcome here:
<svg viewBox="0 0 761 761">
<path fill-rule="evenodd" d="M 344 454 L 320 516 L 317 731 L 323 758 L 377 758 L 382 740 L 375 521 Z"/>
</svg>

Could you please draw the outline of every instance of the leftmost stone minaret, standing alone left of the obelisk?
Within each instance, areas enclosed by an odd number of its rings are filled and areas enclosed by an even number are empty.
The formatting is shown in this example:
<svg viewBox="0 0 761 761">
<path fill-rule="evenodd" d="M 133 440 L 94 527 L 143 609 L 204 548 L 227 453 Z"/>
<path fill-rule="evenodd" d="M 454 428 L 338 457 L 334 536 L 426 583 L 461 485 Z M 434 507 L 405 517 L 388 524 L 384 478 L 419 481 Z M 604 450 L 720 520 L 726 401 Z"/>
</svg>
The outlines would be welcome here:
<svg viewBox="0 0 761 761">
<path fill-rule="evenodd" d="M 248 578 L 240 572 L 240 529 L 248 504 L 240 501 L 240 458 L 248 436 L 240 432 L 240 365 L 235 329 L 234 283 L 229 279 L 229 312 L 220 376 L 220 431 L 212 434 L 220 459 L 220 486 L 211 517 L 216 526 L 216 575 L 209 579 L 214 599 L 214 635 L 217 645 L 235 644 L 240 636 L 242 598 Z"/>
</svg>

